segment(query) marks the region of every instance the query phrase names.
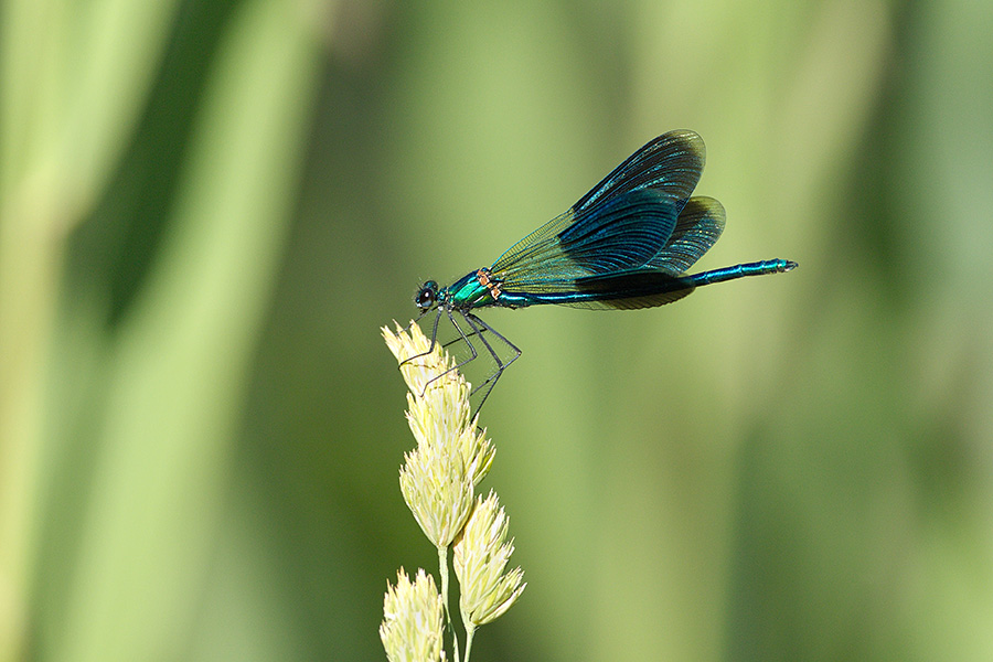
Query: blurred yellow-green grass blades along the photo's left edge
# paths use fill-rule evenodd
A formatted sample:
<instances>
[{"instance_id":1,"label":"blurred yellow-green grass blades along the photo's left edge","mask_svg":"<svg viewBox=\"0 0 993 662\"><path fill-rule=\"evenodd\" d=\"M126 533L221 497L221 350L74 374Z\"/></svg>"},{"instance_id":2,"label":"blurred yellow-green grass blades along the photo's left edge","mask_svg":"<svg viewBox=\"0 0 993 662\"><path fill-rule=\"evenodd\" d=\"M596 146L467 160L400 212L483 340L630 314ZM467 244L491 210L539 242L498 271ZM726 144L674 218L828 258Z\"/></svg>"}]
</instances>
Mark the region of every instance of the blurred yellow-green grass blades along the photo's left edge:
<instances>
[{"instance_id":1,"label":"blurred yellow-green grass blades along the photo's left edge","mask_svg":"<svg viewBox=\"0 0 993 662\"><path fill-rule=\"evenodd\" d=\"M0 659L25 637L46 354L64 239L153 79L175 0L0 6ZM51 413L50 413L51 414Z\"/></svg>"}]
</instances>

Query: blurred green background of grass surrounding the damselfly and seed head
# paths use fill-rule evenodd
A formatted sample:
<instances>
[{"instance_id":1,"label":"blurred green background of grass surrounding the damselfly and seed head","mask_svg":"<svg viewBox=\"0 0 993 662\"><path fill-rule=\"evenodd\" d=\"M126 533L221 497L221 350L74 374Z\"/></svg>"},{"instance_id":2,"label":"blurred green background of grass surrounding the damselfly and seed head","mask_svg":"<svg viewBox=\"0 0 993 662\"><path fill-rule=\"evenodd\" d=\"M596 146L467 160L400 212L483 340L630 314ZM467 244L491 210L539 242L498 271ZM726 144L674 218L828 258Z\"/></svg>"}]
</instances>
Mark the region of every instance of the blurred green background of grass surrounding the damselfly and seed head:
<instances>
[{"instance_id":1,"label":"blurred green background of grass surrounding the damselfly and seed head","mask_svg":"<svg viewBox=\"0 0 993 662\"><path fill-rule=\"evenodd\" d=\"M993 659L993 3L8 0L0 660L377 660L378 327L698 131L703 258L485 319L473 660Z\"/></svg>"}]
</instances>

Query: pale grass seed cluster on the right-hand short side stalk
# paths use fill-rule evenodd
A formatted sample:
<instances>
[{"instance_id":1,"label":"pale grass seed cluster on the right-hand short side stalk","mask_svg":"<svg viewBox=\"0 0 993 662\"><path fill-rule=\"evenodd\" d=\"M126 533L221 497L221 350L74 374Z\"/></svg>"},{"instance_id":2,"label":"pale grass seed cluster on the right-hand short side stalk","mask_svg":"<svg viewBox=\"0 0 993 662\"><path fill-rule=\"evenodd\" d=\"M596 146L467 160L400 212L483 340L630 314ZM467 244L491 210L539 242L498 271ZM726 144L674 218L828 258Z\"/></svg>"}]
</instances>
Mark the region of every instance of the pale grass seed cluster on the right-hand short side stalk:
<instances>
[{"instance_id":1,"label":"pale grass seed cluster on the right-hand short side stalk","mask_svg":"<svg viewBox=\"0 0 993 662\"><path fill-rule=\"evenodd\" d=\"M479 496L469 521L456 538L452 566L459 578L462 620L472 626L489 623L510 609L524 587L520 567L504 573L513 540L506 542L509 520L496 494Z\"/></svg>"}]
</instances>

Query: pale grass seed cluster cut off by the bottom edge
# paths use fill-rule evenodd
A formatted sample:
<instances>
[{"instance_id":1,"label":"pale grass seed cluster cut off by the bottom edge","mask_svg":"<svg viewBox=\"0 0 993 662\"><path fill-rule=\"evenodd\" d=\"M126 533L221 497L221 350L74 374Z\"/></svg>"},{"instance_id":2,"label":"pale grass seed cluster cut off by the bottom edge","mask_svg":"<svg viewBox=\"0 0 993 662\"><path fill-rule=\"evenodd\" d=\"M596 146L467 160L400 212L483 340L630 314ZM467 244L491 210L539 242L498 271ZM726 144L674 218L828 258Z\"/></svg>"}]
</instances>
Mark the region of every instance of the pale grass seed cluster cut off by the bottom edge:
<instances>
[{"instance_id":1,"label":"pale grass seed cluster cut off by the bottom edge","mask_svg":"<svg viewBox=\"0 0 993 662\"><path fill-rule=\"evenodd\" d=\"M389 662L444 662L444 607L435 578L423 569L412 583L403 568L386 583L380 639Z\"/></svg>"}]
</instances>

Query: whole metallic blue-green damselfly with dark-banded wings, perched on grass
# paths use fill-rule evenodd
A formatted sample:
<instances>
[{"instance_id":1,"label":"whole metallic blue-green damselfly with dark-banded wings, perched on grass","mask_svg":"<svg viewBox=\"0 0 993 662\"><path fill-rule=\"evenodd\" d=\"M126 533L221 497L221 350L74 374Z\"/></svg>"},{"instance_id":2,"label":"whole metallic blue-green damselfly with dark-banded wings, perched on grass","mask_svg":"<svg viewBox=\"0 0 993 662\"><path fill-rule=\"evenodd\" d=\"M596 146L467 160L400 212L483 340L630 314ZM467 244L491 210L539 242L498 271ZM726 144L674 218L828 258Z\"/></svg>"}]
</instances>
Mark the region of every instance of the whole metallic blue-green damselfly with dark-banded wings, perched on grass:
<instances>
[{"instance_id":1,"label":"whole metallic blue-green damselfly with dark-banded wings, perched on grass","mask_svg":"<svg viewBox=\"0 0 993 662\"><path fill-rule=\"evenodd\" d=\"M496 363L495 373L477 387L487 388L485 401L521 350L476 314L481 308L544 303L595 310L653 308L705 285L796 268L794 261L767 259L686 274L718 239L725 224L719 202L691 196L704 154L703 139L694 131L664 134L490 267L470 271L446 287L434 280L421 285L414 298L421 317L437 311L431 346L442 314L470 351L456 367L479 355L477 340ZM505 343L513 356L502 361L485 333Z\"/></svg>"}]
</instances>

